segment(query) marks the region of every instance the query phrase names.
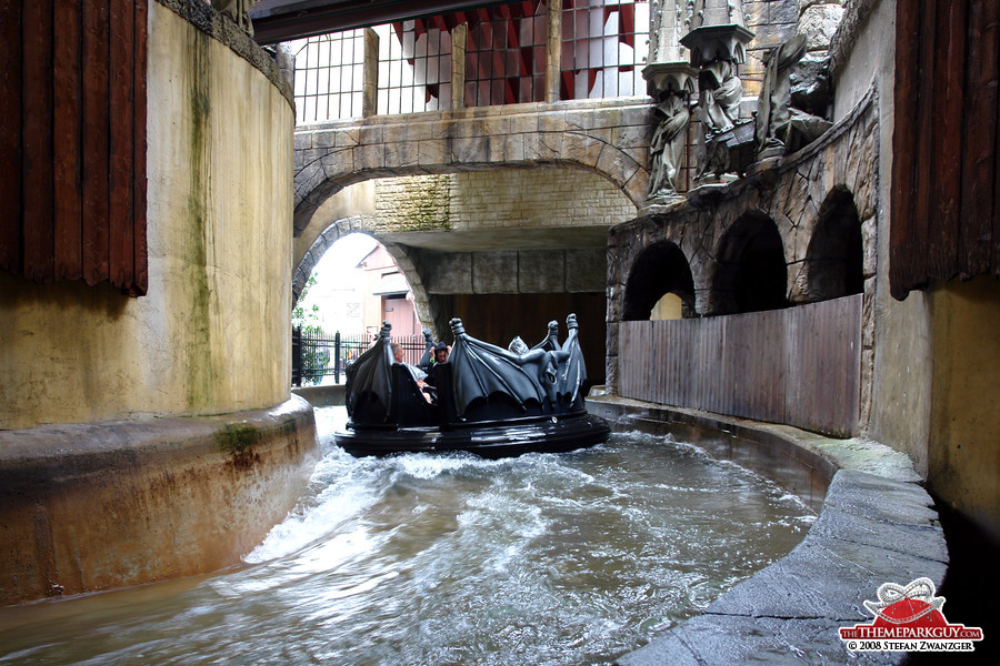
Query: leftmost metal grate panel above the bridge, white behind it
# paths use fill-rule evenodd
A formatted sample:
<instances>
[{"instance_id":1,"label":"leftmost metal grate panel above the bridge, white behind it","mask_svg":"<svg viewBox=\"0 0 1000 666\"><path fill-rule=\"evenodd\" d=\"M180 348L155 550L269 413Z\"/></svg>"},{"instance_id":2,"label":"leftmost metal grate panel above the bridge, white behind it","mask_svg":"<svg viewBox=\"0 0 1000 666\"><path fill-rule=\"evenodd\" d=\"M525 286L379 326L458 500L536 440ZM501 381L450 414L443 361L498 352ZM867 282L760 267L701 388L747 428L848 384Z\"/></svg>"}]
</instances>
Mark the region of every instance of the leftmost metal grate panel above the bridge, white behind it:
<instances>
[{"instance_id":1,"label":"leftmost metal grate panel above the bridge, white behind it","mask_svg":"<svg viewBox=\"0 0 1000 666\"><path fill-rule=\"evenodd\" d=\"M363 30L322 34L292 49L297 124L361 117L363 36Z\"/></svg>"}]
</instances>

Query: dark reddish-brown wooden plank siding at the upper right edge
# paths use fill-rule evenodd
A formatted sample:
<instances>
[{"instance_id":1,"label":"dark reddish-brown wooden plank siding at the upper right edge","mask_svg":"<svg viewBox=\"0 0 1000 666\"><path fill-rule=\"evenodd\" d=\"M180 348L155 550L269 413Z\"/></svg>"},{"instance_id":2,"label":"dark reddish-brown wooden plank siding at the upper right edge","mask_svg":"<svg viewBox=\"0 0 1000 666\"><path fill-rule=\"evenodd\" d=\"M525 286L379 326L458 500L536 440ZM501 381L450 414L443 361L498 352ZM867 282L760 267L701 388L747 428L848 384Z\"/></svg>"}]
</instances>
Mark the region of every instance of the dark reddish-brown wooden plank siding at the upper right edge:
<instances>
[{"instance_id":1,"label":"dark reddish-brown wooden plank siding at the upper right edge","mask_svg":"<svg viewBox=\"0 0 1000 666\"><path fill-rule=\"evenodd\" d=\"M1000 3L897 2L891 293L1000 278Z\"/></svg>"}]
</instances>

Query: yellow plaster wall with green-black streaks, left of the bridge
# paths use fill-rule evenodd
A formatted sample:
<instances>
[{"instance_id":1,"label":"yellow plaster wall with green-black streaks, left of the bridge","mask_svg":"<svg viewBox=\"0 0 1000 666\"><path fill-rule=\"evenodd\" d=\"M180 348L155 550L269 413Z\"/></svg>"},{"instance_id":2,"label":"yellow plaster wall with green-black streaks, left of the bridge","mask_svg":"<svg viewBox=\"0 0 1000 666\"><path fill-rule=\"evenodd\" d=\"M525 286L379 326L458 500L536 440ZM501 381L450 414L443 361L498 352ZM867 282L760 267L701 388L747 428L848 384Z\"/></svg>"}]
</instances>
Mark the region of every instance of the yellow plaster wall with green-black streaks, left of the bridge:
<instances>
[{"instance_id":1,"label":"yellow plaster wall with green-black streaks, left of the bridge","mask_svg":"<svg viewBox=\"0 0 1000 666\"><path fill-rule=\"evenodd\" d=\"M228 47L149 8L149 295L0 274L0 428L289 396L292 110Z\"/></svg>"}]
</instances>

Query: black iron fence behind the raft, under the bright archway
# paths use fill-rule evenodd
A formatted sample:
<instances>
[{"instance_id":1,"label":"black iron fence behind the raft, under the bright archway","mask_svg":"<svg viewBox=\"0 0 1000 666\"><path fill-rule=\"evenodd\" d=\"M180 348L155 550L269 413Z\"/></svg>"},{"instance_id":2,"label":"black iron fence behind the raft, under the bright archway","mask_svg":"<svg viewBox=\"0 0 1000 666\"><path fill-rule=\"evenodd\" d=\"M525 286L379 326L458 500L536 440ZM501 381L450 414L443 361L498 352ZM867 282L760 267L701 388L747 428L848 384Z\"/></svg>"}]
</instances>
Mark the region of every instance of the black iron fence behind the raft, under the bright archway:
<instances>
[{"instance_id":1,"label":"black iron fence behind the raft, under the bright archway","mask_svg":"<svg viewBox=\"0 0 1000 666\"><path fill-rule=\"evenodd\" d=\"M341 384L347 380L347 369L358 356L368 351L377 334L329 334L292 329L292 386ZM403 349L403 361L417 365L423 355L423 335L393 335ZM329 377L329 379L328 379Z\"/></svg>"}]
</instances>

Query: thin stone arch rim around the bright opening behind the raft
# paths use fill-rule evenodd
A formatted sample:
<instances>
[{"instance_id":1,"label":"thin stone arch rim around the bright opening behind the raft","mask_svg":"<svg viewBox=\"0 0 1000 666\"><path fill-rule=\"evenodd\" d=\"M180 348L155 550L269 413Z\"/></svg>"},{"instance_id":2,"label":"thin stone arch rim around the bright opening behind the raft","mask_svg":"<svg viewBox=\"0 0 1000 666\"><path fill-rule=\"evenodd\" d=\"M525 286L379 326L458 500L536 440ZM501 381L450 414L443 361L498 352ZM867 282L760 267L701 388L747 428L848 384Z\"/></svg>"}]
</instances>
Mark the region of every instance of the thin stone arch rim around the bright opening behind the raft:
<instances>
[{"instance_id":1,"label":"thin stone arch rim around the bright opening behind the raft","mask_svg":"<svg viewBox=\"0 0 1000 666\"><path fill-rule=\"evenodd\" d=\"M299 294L302 293L306 283L309 281L312 269L316 268L316 264L319 263L327 250L338 240L351 233L370 235L386 246L386 251L396 261L399 270L402 271L403 276L407 279L410 291L413 292L413 306L417 310L417 316L420 319L421 325L433 331L436 322L441 317L438 316L439 313L433 306L433 302L428 297L419 266L403 245L390 243L379 238L374 220L368 215L341 218L317 236L292 273L292 305L299 300ZM436 332L436 334L440 335L440 332Z\"/></svg>"}]
</instances>

